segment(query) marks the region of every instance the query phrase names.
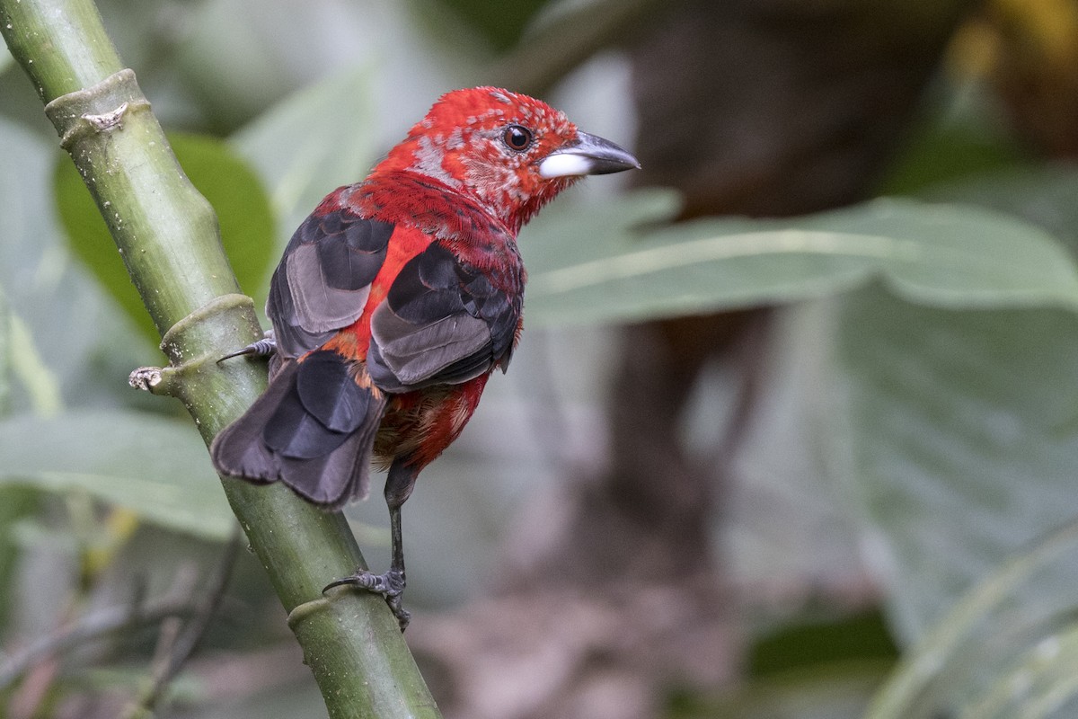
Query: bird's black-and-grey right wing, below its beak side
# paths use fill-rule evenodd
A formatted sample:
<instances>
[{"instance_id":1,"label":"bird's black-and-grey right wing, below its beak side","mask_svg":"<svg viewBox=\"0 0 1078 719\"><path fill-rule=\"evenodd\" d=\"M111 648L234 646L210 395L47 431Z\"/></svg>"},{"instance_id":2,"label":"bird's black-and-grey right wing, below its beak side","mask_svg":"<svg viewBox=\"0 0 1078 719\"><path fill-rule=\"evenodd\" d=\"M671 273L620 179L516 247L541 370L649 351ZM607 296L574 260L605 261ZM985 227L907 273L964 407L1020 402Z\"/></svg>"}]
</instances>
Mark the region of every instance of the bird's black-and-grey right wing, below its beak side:
<instances>
[{"instance_id":1,"label":"bird's black-and-grey right wing, below its beak side","mask_svg":"<svg viewBox=\"0 0 1078 719\"><path fill-rule=\"evenodd\" d=\"M414 257L371 317L367 370L390 392L459 384L505 365L522 295L495 288L440 245Z\"/></svg>"}]
</instances>

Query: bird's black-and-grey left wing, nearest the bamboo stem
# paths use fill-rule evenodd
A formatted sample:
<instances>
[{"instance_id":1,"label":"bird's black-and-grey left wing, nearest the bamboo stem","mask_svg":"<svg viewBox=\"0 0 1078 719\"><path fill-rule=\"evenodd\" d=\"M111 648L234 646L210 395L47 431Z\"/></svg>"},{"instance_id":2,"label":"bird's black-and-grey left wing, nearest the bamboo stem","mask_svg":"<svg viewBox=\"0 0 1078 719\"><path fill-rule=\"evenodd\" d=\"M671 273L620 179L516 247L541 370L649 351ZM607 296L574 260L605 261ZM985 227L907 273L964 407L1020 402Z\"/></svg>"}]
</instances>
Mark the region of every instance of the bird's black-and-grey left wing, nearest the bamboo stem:
<instances>
[{"instance_id":1,"label":"bird's black-and-grey left wing, nearest the bamboo stem","mask_svg":"<svg viewBox=\"0 0 1078 719\"><path fill-rule=\"evenodd\" d=\"M278 351L300 357L359 318L392 232L343 208L303 221L270 282Z\"/></svg>"}]
</instances>

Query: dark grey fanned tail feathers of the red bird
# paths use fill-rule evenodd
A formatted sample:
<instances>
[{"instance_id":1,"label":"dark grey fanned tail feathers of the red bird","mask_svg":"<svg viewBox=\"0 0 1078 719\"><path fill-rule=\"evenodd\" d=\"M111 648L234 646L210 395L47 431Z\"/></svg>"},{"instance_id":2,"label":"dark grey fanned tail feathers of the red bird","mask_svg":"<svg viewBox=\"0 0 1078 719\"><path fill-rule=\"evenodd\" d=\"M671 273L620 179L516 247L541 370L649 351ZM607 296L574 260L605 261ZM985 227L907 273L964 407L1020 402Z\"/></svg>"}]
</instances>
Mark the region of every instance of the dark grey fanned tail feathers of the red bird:
<instances>
[{"instance_id":1,"label":"dark grey fanned tail feathers of the red bird","mask_svg":"<svg viewBox=\"0 0 1078 719\"><path fill-rule=\"evenodd\" d=\"M222 474L280 480L308 501L337 509L369 492L384 410L384 396L357 385L343 357L314 352L284 362L265 393L218 434L210 454Z\"/></svg>"}]
</instances>

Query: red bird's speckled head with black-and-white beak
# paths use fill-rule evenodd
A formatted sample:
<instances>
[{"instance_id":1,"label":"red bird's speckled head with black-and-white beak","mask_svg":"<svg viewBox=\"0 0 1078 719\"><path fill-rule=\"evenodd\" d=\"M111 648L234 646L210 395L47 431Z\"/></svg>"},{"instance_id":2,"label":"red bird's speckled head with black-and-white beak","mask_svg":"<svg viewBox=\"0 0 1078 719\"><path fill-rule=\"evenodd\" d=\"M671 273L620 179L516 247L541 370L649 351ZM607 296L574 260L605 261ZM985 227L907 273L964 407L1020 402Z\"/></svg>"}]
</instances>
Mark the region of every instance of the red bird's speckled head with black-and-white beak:
<instances>
[{"instance_id":1,"label":"red bird's speckled head with black-and-white beak","mask_svg":"<svg viewBox=\"0 0 1078 719\"><path fill-rule=\"evenodd\" d=\"M497 87L443 95L375 171L407 170L473 195L513 231L584 175L639 168L545 102Z\"/></svg>"}]
</instances>

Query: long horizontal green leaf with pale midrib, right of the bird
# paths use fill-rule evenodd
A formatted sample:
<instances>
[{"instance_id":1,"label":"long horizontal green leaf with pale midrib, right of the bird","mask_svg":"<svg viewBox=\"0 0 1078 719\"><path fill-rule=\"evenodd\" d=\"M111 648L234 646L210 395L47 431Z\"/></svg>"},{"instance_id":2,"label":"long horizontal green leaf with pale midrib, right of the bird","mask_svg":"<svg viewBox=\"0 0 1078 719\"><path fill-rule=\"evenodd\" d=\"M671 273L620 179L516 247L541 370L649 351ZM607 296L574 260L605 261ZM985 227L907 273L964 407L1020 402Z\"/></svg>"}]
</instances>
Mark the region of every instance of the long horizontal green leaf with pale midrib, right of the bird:
<instances>
[{"instance_id":1,"label":"long horizontal green leaf with pale midrib, right of the bird","mask_svg":"<svg viewBox=\"0 0 1078 719\"><path fill-rule=\"evenodd\" d=\"M663 218L653 194L564 211L522 243L530 322L626 322L825 296L882 277L944 307L1078 307L1078 273L1044 231L975 207L875 201L792 220Z\"/></svg>"}]
</instances>

